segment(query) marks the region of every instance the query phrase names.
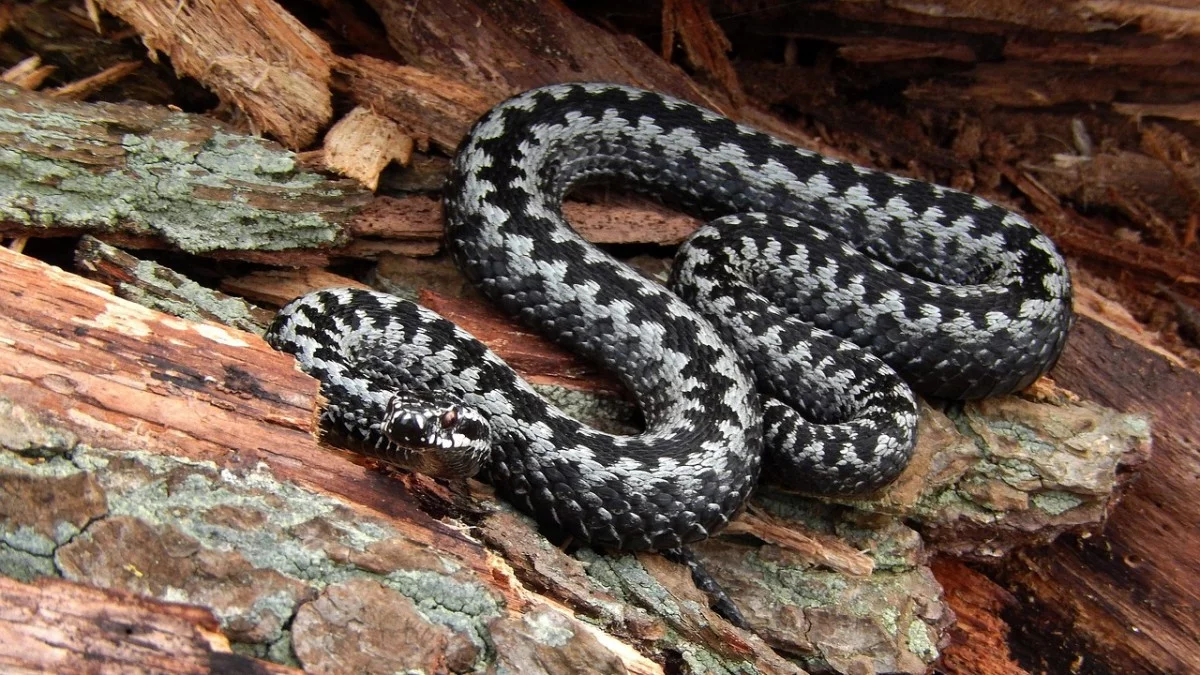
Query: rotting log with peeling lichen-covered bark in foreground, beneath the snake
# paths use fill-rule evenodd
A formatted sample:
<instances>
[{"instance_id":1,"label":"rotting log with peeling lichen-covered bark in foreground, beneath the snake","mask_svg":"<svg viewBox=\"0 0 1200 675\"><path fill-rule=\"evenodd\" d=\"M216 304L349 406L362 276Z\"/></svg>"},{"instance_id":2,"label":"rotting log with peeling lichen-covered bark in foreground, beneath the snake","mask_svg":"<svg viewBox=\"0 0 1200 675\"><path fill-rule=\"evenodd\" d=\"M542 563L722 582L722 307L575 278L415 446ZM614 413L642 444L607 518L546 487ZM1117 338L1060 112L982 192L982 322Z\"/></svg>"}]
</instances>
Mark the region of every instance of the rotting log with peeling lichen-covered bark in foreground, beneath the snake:
<instances>
[{"instance_id":1,"label":"rotting log with peeling lichen-covered bark in foreground, beneath the snake","mask_svg":"<svg viewBox=\"0 0 1200 675\"><path fill-rule=\"evenodd\" d=\"M103 259L125 264L127 274L142 267ZM306 668L365 667L353 653L386 643L390 633L377 621L385 608L391 625L424 635L420 649L392 653L395 668L469 670L492 658L520 662L521 655L545 647L528 643L522 626L530 621L562 626L580 640L574 650L554 652L566 659L559 662L563 668L604 662L653 671L640 651L683 651L695 670L716 659L724 668L752 662L761 671L796 671L778 650L839 670L920 673L937 656L950 615L940 604L919 539L899 522L764 492L766 510L740 519L734 531L767 545L734 538L698 548L757 635L742 632L704 609L684 568L658 556L586 550L568 556L547 549L502 504L476 501L484 492L463 500L421 478L389 480L319 448L310 435L313 382L257 336L131 305L6 251L0 265L0 292L13 310L0 322L0 400L12 422L4 446L16 456L48 458L44 468L17 461L0 471L6 494L23 496L7 515L7 526L25 533L8 567L18 577L59 573L151 596L170 590L226 617L230 639L257 645L264 656L282 640ZM142 274L163 276L152 269ZM460 318L472 316L469 306L458 311ZM1018 459L1019 446L991 430L990 416L1021 419L1032 430L1040 424L1039 411L1049 414L1050 429L1084 432L1058 441L1068 444L1097 432L1121 438L1128 434L1122 429L1136 424L1061 401L1010 399L958 422L992 444L996 456L989 459L979 456L973 441L955 440L948 419L926 410L924 446L912 470L864 508L907 513L935 532L930 545L960 552L983 545L996 550L1025 540L1030 528L1054 532L1079 518L1093 519L1094 509L1106 508L1111 482L1082 485L1070 477L1097 471L1111 477L1121 462L1136 461L1136 434L1105 453L1088 450L1085 464L1066 473L1043 467L1045 495L1081 490L1066 519L1033 507L1044 498L1037 491L1020 497L980 489L1000 480L989 473L994 462L1030 461ZM962 454L947 460L948 448ZM161 482L173 485L166 495L152 489ZM937 495L955 482L973 485L967 492L973 490L970 498L979 504L962 500L946 509ZM79 496L49 512L38 507L38 495L59 492ZM1096 501L1080 508L1086 502L1078 500L1088 494ZM997 519L998 496L1015 510ZM469 532L503 560L430 518L431 504L472 522ZM989 514L990 531L973 520L979 507L988 509L979 515ZM1006 520L1007 530L995 527ZM851 537L848 546L841 537ZM872 561L878 555L887 556L882 568ZM300 568L296 556L306 561ZM770 569L794 572L780 584ZM780 593L792 599L781 604ZM253 610L264 595L275 598L272 610ZM349 597L359 598L356 611L373 619L347 616ZM824 601L814 607L816 598ZM454 614L466 611L469 619L443 615L437 608L446 603L469 608ZM580 623L558 603L607 634ZM241 616L246 608L252 611ZM900 616L878 621L887 608L901 608ZM630 616L641 619L630 623ZM898 620L901 631L890 633ZM485 634L490 644L509 640L515 651L487 656ZM329 635L342 639L325 644ZM340 645L356 646L338 651Z\"/></svg>"}]
</instances>

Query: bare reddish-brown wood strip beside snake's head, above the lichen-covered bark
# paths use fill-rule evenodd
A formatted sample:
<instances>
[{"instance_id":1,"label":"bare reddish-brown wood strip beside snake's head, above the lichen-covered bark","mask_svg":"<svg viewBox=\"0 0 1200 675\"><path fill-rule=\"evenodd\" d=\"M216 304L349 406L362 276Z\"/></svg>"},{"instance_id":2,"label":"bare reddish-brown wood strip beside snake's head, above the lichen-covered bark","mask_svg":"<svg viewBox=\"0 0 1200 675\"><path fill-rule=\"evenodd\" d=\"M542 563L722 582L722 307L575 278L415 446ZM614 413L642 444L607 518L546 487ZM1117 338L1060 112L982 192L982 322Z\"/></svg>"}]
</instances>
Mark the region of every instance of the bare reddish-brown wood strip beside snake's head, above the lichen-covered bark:
<instances>
[{"instance_id":1,"label":"bare reddish-brown wood strip beside snake's head, above the lichen-covered bark","mask_svg":"<svg viewBox=\"0 0 1200 675\"><path fill-rule=\"evenodd\" d=\"M263 461L281 478L403 516L415 540L490 569L401 484L318 446L317 381L257 335L148 310L2 247L0 306L0 396L82 442L221 466Z\"/></svg>"}]
</instances>

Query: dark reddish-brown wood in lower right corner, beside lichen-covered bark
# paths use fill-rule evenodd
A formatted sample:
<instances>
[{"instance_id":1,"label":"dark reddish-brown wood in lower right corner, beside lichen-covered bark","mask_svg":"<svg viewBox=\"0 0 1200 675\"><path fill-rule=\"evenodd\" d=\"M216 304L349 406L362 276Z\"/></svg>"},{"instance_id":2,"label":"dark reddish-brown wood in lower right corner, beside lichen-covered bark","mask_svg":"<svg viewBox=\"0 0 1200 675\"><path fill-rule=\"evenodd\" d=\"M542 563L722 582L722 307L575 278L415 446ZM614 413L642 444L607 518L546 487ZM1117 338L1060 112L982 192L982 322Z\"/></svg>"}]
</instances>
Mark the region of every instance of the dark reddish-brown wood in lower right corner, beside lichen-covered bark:
<instances>
[{"instance_id":1,"label":"dark reddish-brown wood in lower right corner, beside lichen-covered bark","mask_svg":"<svg viewBox=\"0 0 1200 675\"><path fill-rule=\"evenodd\" d=\"M1076 324L1055 378L1080 395L1153 419L1154 461L1103 537L1028 551L1006 578L1034 598L1022 640L1081 640L1079 657L1126 673L1200 670L1200 375L1090 319Z\"/></svg>"}]
</instances>

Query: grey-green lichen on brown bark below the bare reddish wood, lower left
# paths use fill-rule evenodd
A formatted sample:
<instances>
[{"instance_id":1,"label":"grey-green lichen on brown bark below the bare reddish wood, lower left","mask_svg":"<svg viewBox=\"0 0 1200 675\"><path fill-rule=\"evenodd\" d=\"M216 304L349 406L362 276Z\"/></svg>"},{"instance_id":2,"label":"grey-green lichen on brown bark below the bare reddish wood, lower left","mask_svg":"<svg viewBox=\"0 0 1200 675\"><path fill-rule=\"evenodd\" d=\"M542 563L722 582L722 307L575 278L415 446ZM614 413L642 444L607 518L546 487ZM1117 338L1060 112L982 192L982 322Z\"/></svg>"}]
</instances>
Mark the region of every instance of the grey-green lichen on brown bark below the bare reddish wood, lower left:
<instances>
[{"instance_id":1,"label":"grey-green lichen on brown bark below the bare reddish wood, lower left","mask_svg":"<svg viewBox=\"0 0 1200 675\"><path fill-rule=\"evenodd\" d=\"M412 598L428 621L467 635L480 647L487 645L487 622L502 613L502 601L469 574L456 574L461 566L449 556L413 552L397 557L398 565L418 560L432 567L367 571L354 563L353 554L338 552L370 554L379 545L391 550L389 545L407 540L383 520L355 518L355 512L342 502L278 480L264 466L222 470L208 461L76 444L61 430L38 424L19 406L0 404L0 412L7 412L0 414L8 429L2 435L5 443L20 448L53 443L62 447L64 453L49 460L29 460L0 452L0 471L43 479L95 476L107 498L104 519L133 518L157 528L154 531L173 531L190 538L197 551L210 551L199 554L202 560L197 565L218 561L211 579L196 583L160 578L156 584L166 585L157 595L174 602L212 603L214 613L227 628L238 626L241 634L264 640L244 644L244 651L262 653L265 645L271 645L277 652L283 649L280 645L288 644L287 632L280 628L292 620L298 596L294 584L282 581L270 581L274 586L258 591L222 589L222 584L236 583L238 577L223 580L221 574L229 565L236 569L238 558L250 565L246 569L251 574L275 571L302 580L314 591L355 577L376 578ZM0 527L0 572L24 580L55 575L62 567L56 565L55 556L65 544L101 545L92 542L90 525L80 531L71 522L55 521L53 527L53 537L28 526ZM106 540L112 540L112 532ZM175 542L170 544L175 546L185 542L168 540ZM188 544L182 545L184 549L176 549L179 552L192 550ZM410 550L418 549L425 550L420 546ZM79 557L73 556L71 568L78 571L78 565ZM126 567L138 578L143 574ZM101 574L113 578L114 572L107 568ZM120 573L116 574L119 578Z\"/></svg>"}]
</instances>

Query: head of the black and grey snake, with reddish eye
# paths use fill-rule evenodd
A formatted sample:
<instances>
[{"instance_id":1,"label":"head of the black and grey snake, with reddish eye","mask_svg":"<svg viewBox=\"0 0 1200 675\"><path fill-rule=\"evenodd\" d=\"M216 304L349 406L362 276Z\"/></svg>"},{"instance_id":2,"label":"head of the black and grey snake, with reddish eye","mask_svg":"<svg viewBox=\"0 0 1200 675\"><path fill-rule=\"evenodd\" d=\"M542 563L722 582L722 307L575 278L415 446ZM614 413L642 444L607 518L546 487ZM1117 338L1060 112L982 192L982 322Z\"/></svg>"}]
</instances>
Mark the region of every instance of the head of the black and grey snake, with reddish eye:
<instances>
[{"instance_id":1,"label":"head of the black and grey snake, with reddish eye","mask_svg":"<svg viewBox=\"0 0 1200 675\"><path fill-rule=\"evenodd\" d=\"M469 478L492 449L492 426L449 396L400 392L388 400L379 430L391 441L389 462L437 478Z\"/></svg>"}]
</instances>

